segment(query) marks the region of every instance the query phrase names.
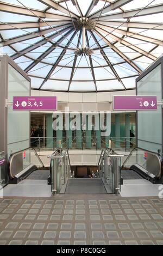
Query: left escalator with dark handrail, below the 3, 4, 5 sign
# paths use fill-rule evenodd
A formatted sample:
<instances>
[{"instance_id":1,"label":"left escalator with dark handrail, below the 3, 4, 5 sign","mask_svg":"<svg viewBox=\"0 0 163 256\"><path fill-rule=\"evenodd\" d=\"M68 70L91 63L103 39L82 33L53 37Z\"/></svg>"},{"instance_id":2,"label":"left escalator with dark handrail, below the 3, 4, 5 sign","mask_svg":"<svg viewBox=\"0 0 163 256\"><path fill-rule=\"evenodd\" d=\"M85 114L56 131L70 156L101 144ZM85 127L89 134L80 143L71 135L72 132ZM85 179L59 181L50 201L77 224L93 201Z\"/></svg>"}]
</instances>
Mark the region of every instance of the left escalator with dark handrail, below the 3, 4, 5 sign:
<instances>
[{"instance_id":1,"label":"left escalator with dark handrail, below the 3, 4, 5 sign","mask_svg":"<svg viewBox=\"0 0 163 256\"><path fill-rule=\"evenodd\" d=\"M12 153L8 160L9 184L18 184L24 179L45 179L49 176L36 150L27 148Z\"/></svg>"}]
</instances>

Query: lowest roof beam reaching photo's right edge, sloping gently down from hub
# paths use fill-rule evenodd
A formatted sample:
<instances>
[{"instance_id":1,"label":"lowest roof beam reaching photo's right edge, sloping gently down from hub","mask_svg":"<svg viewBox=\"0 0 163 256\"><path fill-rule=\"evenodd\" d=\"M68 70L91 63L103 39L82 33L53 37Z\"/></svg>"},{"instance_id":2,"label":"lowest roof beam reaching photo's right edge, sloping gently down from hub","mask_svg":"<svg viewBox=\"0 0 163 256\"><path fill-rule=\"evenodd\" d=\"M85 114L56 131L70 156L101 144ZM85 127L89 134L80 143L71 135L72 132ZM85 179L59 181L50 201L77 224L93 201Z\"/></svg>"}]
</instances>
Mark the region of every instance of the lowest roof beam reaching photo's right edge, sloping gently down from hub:
<instances>
[{"instance_id":1,"label":"lowest roof beam reaching photo's right edge, sloping gently down from hub","mask_svg":"<svg viewBox=\"0 0 163 256\"><path fill-rule=\"evenodd\" d=\"M105 25L99 25L98 26L102 27L102 28L106 28L106 29L109 29L110 32L108 32L108 35L112 35L112 31L116 32L116 33L119 33L119 34L122 34L124 36L127 36L127 37L131 37L131 38L136 38L136 39L139 39L139 40L142 40L142 41L146 41L146 42L151 42L152 44L156 44L156 45L162 45L163 44L163 40L157 40L155 38L151 38L149 36L146 36L146 35L142 35L142 34L136 34L136 33L133 33L133 32L129 32L129 31L125 31L123 29L120 29L120 28L114 28L114 27L109 27L109 26L105 26Z\"/></svg>"}]
</instances>

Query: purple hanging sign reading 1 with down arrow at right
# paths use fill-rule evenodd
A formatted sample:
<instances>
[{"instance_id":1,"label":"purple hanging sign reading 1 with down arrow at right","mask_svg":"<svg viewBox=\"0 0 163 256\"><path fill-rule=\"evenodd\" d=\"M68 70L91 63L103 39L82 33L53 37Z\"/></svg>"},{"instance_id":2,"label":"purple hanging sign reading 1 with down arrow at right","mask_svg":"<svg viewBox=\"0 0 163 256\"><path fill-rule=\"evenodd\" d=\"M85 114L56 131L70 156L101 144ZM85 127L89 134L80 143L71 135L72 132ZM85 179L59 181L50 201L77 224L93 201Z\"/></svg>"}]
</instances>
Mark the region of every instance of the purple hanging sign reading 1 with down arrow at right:
<instances>
[{"instance_id":1,"label":"purple hanging sign reading 1 with down arrow at right","mask_svg":"<svg viewBox=\"0 0 163 256\"><path fill-rule=\"evenodd\" d=\"M114 96L114 110L156 110L156 96Z\"/></svg>"}]
</instances>

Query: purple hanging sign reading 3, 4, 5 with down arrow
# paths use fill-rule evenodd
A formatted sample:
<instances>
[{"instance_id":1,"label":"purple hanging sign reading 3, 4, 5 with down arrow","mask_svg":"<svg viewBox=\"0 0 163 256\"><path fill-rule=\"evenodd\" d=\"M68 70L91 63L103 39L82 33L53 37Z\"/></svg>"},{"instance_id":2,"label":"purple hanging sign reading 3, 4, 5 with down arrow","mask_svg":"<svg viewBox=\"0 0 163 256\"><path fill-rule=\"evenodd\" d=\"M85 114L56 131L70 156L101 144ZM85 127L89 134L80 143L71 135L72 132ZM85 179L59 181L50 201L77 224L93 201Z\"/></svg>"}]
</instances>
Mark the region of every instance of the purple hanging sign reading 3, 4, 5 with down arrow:
<instances>
[{"instance_id":1,"label":"purple hanging sign reading 3, 4, 5 with down arrow","mask_svg":"<svg viewBox=\"0 0 163 256\"><path fill-rule=\"evenodd\" d=\"M57 110L57 96L14 96L13 110Z\"/></svg>"}]
</instances>

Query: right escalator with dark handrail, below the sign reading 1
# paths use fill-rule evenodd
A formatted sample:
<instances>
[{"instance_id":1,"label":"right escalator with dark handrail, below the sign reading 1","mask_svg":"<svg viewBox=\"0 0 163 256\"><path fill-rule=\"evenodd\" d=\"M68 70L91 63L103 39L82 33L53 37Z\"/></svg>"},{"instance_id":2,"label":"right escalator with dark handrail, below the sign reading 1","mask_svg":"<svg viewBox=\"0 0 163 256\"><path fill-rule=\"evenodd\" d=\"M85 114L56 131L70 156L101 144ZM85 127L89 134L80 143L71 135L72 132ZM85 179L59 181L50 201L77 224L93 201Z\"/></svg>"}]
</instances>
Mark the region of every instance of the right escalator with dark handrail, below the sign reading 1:
<instances>
[{"instance_id":1,"label":"right escalator with dark handrail, below the sign reading 1","mask_svg":"<svg viewBox=\"0 0 163 256\"><path fill-rule=\"evenodd\" d=\"M124 179L146 179L153 184L162 184L162 159L158 153L134 148L122 164L121 176Z\"/></svg>"}]
</instances>

